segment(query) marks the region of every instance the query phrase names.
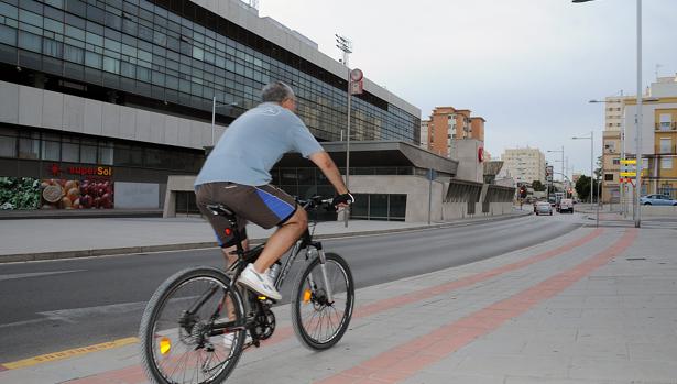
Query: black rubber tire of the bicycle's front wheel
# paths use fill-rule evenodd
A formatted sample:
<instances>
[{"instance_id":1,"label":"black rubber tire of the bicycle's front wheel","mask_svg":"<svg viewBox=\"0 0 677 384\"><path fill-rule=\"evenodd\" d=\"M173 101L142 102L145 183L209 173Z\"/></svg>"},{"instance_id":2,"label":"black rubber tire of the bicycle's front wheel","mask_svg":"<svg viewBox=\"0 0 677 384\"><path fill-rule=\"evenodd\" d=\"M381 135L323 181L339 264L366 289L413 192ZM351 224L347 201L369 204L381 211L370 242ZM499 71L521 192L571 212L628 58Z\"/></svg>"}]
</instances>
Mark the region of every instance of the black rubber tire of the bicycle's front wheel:
<instances>
[{"instance_id":1,"label":"black rubber tire of the bicycle's front wheel","mask_svg":"<svg viewBox=\"0 0 677 384\"><path fill-rule=\"evenodd\" d=\"M342 315L340 317L340 323L338 328L329 336L327 340L318 340L317 338L314 337L314 334L308 332L308 330L304 326L304 318L302 314L302 309L303 309L302 307L306 307L310 304L310 301L315 301L315 297L312 297L308 299L308 296L306 294L306 290L307 290L306 283L307 283L308 275L314 271L317 271L318 272L317 275L321 276L320 270L318 267L320 263L319 257L315 257L306 266L303 273L299 273L296 276L296 281L294 282L294 289L292 290L294 293L292 295L292 300L291 300L292 301L292 326L294 328L294 333L296 333L296 337L301 341L302 345L310 350L314 350L314 351L329 349L341 340L341 338L343 337L343 333L346 333L346 330L348 329L348 326L350 325L350 319L352 317L352 308L354 305L354 283L352 281L352 273L350 272L350 267L348 266L348 263L346 262L346 260L343 260L343 257L341 257L340 255L336 253L327 253L326 261L327 261L326 265L334 265L337 267L336 270L339 273L341 273L342 275L341 277L343 278L343 283L346 284L345 305L342 306L342 308L339 308L342 310ZM332 281L331 277L329 277L329 279ZM338 293L336 293L335 303L330 306L325 306L324 308L327 308L327 307L334 308L334 305L337 304L337 296L342 296L342 295L338 295ZM323 306L320 305L320 303L313 303L313 307L314 307L313 309L317 310L317 307L323 307ZM334 309L337 310L337 308L334 308ZM320 326L320 330L321 330L321 326Z\"/></svg>"}]
</instances>

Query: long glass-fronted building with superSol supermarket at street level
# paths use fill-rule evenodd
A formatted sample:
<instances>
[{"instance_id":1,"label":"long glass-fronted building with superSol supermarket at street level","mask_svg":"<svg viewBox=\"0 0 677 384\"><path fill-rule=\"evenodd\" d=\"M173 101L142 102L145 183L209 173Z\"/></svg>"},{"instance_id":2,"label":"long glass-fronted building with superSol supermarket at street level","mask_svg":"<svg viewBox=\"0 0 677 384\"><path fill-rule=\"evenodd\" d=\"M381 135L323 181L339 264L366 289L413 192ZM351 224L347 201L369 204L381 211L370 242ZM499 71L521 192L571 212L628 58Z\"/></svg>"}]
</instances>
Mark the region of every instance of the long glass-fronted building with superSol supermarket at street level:
<instances>
[{"instance_id":1,"label":"long glass-fronted building with superSol supermarket at street level","mask_svg":"<svg viewBox=\"0 0 677 384\"><path fill-rule=\"evenodd\" d=\"M197 174L205 147L272 80L292 86L318 141L345 138L347 75L240 0L0 0L0 178L61 183L61 200L44 201L41 189L31 206L110 208L114 195L114 208L161 208L167 176ZM365 80L352 97L351 140L417 144L419 117ZM274 182L292 194L328 188L307 172L274 171ZM111 188L110 204L77 199L95 182Z\"/></svg>"}]
</instances>

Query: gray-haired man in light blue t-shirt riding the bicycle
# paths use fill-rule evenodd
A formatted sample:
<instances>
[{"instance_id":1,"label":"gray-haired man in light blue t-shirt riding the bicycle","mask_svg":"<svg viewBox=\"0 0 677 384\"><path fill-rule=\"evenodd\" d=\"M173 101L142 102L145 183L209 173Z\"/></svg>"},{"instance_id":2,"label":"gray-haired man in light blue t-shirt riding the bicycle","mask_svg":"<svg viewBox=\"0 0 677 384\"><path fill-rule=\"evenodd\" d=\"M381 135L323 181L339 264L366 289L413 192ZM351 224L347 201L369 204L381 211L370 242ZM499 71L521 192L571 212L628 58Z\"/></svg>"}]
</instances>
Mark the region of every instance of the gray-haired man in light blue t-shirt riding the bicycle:
<instances>
[{"instance_id":1,"label":"gray-haired man in light blue t-shirt riding the bicycle","mask_svg":"<svg viewBox=\"0 0 677 384\"><path fill-rule=\"evenodd\" d=\"M280 300L282 296L265 271L301 238L308 227L305 210L293 197L271 185L270 169L287 152L298 152L315 163L337 191L334 206L354 201L336 164L308 128L294 113L296 97L290 86L274 81L262 90L262 103L236 119L226 130L195 182L199 210L215 230L229 265L237 256L229 221L212 215L207 205L223 204L238 217L242 239L248 221L265 229L277 226L261 255L249 264L238 283ZM242 248L248 249L248 241Z\"/></svg>"}]
</instances>

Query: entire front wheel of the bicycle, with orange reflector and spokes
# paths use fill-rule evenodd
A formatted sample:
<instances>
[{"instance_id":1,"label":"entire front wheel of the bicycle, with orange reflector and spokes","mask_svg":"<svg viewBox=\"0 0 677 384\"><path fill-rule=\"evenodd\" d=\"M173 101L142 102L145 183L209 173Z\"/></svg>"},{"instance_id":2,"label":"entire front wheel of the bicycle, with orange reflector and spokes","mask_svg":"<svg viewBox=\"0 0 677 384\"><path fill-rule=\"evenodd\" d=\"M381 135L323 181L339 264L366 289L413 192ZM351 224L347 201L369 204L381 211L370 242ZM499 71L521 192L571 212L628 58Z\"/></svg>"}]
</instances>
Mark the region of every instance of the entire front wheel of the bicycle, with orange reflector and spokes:
<instances>
[{"instance_id":1,"label":"entire front wheel of the bicycle, with orange reflector and spokes","mask_svg":"<svg viewBox=\"0 0 677 384\"><path fill-rule=\"evenodd\" d=\"M334 347L352 317L354 285L348 263L336 253L327 253L325 264L316 257L298 274L292 292L292 325L302 344L310 350Z\"/></svg>"}]
</instances>

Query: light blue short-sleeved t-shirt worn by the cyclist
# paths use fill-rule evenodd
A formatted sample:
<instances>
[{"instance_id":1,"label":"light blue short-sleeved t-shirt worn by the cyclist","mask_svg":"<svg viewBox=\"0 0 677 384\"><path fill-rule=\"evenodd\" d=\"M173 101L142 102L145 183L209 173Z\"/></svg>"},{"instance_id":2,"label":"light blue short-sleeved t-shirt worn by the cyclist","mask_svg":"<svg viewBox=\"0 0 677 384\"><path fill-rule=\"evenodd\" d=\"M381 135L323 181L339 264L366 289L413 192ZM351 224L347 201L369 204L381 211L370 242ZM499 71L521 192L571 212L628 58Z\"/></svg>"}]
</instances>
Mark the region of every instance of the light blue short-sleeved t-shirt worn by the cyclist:
<instances>
[{"instance_id":1,"label":"light blue short-sleeved t-shirt worn by the cyclist","mask_svg":"<svg viewBox=\"0 0 677 384\"><path fill-rule=\"evenodd\" d=\"M271 168L287 152L304 157L324 151L292 111L264 102L236 119L219 139L195 185L231 182L261 186L271 183Z\"/></svg>"}]
</instances>

